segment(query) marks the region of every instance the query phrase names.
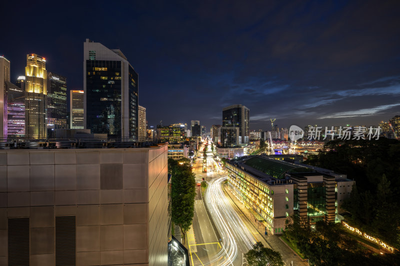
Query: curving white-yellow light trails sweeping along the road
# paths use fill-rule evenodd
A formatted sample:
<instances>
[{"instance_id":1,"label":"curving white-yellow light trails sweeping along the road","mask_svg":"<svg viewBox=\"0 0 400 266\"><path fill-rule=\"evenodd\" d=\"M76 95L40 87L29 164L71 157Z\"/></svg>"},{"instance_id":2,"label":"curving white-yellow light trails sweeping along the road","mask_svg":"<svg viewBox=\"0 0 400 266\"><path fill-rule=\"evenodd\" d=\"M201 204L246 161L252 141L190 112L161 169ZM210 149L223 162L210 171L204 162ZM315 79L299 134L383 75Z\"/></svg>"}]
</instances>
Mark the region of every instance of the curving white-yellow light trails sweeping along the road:
<instances>
[{"instance_id":1,"label":"curving white-yellow light trails sweeping along the road","mask_svg":"<svg viewBox=\"0 0 400 266\"><path fill-rule=\"evenodd\" d=\"M221 186L225 180L226 177L213 179L208 183L208 188L204 195L205 203L221 236L222 244L222 249L218 254L209 258L209 261L204 263L204 265L233 265L233 261L237 256L238 245L240 245L241 250L248 251L256 242L254 236L233 210L224 195Z\"/></svg>"}]
</instances>

